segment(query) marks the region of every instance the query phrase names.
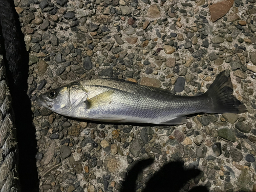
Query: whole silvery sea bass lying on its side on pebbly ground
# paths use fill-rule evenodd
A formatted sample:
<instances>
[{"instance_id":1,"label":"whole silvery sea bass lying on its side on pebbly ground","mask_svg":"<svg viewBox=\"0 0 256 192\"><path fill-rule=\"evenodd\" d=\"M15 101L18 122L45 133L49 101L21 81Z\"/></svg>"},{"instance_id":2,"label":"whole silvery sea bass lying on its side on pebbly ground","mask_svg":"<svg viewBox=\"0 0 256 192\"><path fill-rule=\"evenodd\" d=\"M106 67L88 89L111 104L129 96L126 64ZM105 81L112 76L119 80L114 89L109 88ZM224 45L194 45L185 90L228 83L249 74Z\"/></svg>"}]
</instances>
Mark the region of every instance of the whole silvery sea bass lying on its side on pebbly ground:
<instances>
[{"instance_id":1,"label":"whole silvery sea bass lying on its side on pebbly ground","mask_svg":"<svg viewBox=\"0 0 256 192\"><path fill-rule=\"evenodd\" d=\"M189 114L246 112L232 93L231 79L222 71L207 92L198 96L174 95L129 81L90 79L41 94L37 102L78 119L174 125L185 123Z\"/></svg>"}]
</instances>

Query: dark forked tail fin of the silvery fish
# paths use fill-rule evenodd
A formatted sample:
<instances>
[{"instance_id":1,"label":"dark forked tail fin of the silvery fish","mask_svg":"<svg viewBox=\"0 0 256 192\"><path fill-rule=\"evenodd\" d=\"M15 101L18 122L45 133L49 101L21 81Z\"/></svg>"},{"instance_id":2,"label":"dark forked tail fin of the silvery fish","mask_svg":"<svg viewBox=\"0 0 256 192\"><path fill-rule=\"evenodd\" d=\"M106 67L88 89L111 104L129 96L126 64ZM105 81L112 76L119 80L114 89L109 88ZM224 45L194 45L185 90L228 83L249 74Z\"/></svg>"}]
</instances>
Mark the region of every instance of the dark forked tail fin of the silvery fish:
<instances>
[{"instance_id":1,"label":"dark forked tail fin of the silvery fish","mask_svg":"<svg viewBox=\"0 0 256 192\"><path fill-rule=\"evenodd\" d=\"M230 77L222 71L204 94L212 101L210 113L244 113L246 106L233 96Z\"/></svg>"}]
</instances>

